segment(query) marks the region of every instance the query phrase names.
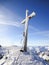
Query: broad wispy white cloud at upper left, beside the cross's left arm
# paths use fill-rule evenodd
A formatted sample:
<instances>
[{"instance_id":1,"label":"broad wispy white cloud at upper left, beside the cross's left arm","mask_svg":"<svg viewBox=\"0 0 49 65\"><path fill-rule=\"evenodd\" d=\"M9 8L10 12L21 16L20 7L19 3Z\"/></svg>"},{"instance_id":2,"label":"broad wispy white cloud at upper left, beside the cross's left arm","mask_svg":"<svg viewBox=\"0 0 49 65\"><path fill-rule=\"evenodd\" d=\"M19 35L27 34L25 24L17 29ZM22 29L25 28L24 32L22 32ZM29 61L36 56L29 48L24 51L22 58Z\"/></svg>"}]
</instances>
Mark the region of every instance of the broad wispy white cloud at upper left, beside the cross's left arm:
<instances>
[{"instance_id":1,"label":"broad wispy white cloud at upper left, beside the cross's left arm","mask_svg":"<svg viewBox=\"0 0 49 65\"><path fill-rule=\"evenodd\" d=\"M20 27L19 21L22 20L19 15L13 13L9 9L5 8L4 6L0 5L0 25L10 25Z\"/></svg>"}]
</instances>

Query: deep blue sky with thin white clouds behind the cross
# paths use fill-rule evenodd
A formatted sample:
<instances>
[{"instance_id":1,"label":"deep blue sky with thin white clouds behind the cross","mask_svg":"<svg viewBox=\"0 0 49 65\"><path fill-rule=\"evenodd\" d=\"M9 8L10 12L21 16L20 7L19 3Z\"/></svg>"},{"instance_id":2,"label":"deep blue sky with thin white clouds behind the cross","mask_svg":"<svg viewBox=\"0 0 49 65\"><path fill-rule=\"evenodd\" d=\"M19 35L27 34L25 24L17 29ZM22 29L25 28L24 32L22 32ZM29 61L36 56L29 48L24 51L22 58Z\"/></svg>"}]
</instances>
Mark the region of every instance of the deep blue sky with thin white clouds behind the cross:
<instances>
[{"instance_id":1,"label":"deep blue sky with thin white clouds behind the cross","mask_svg":"<svg viewBox=\"0 0 49 65\"><path fill-rule=\"evenodd\" d=\"M0 44L23 45L26 9L36 13L29 20L28 45L49 45L49 0L0 0Z\"/></svg>"}]
</instances>

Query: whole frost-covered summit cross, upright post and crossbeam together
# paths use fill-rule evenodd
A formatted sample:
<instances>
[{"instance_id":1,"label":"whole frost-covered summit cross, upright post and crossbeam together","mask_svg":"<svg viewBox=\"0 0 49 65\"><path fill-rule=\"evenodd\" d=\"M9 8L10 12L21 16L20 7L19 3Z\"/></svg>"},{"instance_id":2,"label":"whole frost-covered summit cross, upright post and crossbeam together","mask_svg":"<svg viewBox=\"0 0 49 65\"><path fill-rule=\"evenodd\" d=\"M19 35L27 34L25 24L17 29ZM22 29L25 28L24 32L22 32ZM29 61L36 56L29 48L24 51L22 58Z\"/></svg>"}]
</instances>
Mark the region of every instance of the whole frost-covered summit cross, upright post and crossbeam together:
<instances>
[{"instance_id":1,"label":"whole frost-covered summit cross, upright post and crossbeam together","mask_svg":"<svg viewBox=\"0 0 49 65\"><path fill-rule=\"evenodd\" d=\"M28 36L28 21L34 17L36 14L35 12L32 12L29 16L28 16L28 10L26 10L26 18L21 22L22 24L25 25L25 31L24 31L24 49L23 51L27 51L27 36Z\"/></svg>"}]
</instances>

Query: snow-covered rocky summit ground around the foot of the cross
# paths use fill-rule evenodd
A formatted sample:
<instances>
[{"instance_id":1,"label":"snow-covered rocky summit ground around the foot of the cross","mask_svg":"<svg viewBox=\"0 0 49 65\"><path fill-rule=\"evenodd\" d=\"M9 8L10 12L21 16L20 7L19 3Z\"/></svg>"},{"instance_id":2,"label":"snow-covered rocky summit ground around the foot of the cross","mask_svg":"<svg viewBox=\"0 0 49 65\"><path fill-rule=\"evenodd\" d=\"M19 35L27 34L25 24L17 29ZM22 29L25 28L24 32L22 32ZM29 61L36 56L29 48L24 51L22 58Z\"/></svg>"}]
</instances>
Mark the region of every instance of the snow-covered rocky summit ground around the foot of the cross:
<instances>
[{"instance_id":1,"label":"snow-covered rocky summit ground around the foot of the cross","mask_svg":"<svg viewBox=\"0 0 49 65\"><path fill-rule=\"evenodd\" d=\"M39 56L42 51L45 52L45 49L40 51L42 48L32 47L28 48L27 52L20 52L20 49L21 47L17 46L0 47L0 55L3 55L3 58L0 59L0 65L49 65Z\"/></svg>"}]
</instances>

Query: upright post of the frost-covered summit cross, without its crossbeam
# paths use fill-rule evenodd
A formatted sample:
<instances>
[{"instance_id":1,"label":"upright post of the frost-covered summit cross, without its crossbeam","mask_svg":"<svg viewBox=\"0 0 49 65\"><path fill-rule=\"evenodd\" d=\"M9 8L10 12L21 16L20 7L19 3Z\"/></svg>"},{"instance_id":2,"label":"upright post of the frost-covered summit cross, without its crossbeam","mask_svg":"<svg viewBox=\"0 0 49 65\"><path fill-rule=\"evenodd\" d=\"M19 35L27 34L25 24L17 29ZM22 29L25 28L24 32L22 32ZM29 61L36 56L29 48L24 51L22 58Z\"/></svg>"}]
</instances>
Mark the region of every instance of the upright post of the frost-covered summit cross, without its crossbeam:
<instances>
[{"instance_id":1,"label":"upright post of the frost-covered summit cross, without its crossbeam","mask_svg":"<svg viewBox=\"0 0 49 65\"><path fill-rule=\"evenodd\" d=\"M28 36L28 10L26 10L26 21L25 21L25 36L24 36L24 51L27 51L27 36Z\"/></svg>"}]
</instances>

